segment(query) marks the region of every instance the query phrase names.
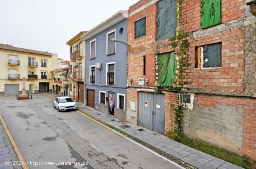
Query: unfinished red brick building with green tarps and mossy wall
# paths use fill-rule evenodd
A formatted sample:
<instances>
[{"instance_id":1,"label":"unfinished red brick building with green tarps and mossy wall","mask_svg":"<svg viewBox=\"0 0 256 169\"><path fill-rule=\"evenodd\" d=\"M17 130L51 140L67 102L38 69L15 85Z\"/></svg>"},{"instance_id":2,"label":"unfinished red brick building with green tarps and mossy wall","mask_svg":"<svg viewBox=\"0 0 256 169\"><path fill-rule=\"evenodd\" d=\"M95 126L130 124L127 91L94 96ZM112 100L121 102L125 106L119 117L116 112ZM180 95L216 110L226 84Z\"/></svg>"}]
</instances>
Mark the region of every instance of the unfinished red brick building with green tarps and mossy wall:
<instances>
[{"instance_id":1,"label":"unfinished red brick building with green tarps and mossy wall","mask_svg":"<svg viewBox=\"0 0 256 169\"><path fill-rule=\"evenodd\" d=\"M129 7L128 122L256 167L256 17L246 2Z\"/></svg>"}]
</instances>

